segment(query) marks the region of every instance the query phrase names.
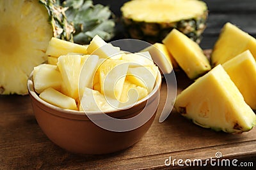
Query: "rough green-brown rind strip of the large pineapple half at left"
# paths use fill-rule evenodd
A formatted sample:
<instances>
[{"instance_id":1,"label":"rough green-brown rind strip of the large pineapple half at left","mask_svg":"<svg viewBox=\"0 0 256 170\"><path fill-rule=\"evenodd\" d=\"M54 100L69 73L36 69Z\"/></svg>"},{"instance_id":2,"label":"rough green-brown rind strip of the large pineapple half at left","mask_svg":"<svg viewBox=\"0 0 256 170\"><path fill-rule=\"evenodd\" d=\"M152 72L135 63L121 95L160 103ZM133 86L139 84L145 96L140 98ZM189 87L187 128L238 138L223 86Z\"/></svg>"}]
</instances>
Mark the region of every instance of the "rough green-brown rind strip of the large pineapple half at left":
<instances>
[{"instance_id":1,"label":"rough green-brown rind strip of the large pineapple half at left","mask_svg":"<svg viewBox=\"0 0 256 170\"><path fill-rule=\"evenodd\" d=\"M68 8L60 6L58 0L39 0L39 3L44 4L48 11L49 22L53 29L53 36L67 41L73 41L75 28L72 23L68 22L65 15L65 11Z\"/></svg>"}]
</instances>

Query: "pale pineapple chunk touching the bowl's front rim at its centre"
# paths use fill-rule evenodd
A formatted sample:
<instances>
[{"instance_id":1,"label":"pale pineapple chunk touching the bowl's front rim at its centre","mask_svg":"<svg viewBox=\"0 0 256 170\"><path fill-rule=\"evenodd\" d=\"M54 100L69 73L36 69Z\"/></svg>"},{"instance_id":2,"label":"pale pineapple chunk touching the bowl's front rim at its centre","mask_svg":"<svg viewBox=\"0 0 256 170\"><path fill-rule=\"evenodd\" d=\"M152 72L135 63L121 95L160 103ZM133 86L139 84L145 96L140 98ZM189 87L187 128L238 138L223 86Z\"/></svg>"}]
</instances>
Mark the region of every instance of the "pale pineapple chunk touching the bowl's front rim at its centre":
<instances>
[{"instance_id":1,"label":"pale pineapple chunk touching the bowl's front rim at its centre","mask_svg":"<svg viewBox=\"0 0 256 170\"><path fill-rule=\"evenodd\" d=\"M80 111L109 111L115 110L108 104L103 94L97 90L84 89L84 94L79 105Z\"/></svg>"}]
</instances>

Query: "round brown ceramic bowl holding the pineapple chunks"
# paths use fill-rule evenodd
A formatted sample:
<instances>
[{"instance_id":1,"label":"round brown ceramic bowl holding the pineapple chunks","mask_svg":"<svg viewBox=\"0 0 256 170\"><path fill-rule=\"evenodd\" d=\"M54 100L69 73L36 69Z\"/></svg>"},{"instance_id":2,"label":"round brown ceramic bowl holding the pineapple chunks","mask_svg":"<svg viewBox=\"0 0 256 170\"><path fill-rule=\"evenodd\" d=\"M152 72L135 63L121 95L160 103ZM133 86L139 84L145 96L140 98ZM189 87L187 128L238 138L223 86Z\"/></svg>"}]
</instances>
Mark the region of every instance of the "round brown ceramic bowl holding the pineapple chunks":
<instances>
[{"instance_id":1,"label":"round brown ceramic bowl holding the pineapple chunks","mask_svg":"<svg viewBox=\"0 0 256 170\"><path fill-rule=\"evenodd\" d=\"M36 94L33 87L33 73L28 80L28 91L35 118L42 131L53 143L69 152L84 154L102 154L123 150L134 145L148 131L156 116L161 87L161 74L157 75L157 84L148 99L141 99L127 110L109 111L107 113L84 113L83 111L65 110L49 104ZM115 132L95 125L87 114L108 114L118 119L131 118L138 115L146 103L148 112L153 112L148 121L132 131ZM152 109L151 109L152 108ZM150 114L150 113L148 113ZM104 120L102 120L104 121ZM136 120L134 120L136 121ZM136 123L136 122L134 122Z\"/></svg>"}]
</instances>

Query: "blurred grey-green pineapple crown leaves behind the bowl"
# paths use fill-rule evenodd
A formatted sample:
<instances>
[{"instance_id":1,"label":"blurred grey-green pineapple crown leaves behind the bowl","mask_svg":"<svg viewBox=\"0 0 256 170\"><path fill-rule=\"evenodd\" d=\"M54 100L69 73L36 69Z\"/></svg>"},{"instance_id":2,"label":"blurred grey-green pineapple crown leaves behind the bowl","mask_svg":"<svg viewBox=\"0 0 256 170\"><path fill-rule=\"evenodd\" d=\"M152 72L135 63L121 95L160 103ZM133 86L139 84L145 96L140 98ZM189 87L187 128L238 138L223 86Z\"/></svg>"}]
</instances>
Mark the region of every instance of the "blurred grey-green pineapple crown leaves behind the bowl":
<instances>
[{"instance_id":1,"label":"blurred grey-green pineapple crown leaves behind the bowl","mask_svg":"<svg viewBox=\"0 0 256 170\"><path fill-rule=\"evenodd\" d=\"M76 32L74 42L90 43L97 34L105 41L113 38L115 32L115 17L109 6L93 5L90 0L66 0L61 6L67 8L65 14L68 21L72 21Z\"/></svg>"}]
</instances>

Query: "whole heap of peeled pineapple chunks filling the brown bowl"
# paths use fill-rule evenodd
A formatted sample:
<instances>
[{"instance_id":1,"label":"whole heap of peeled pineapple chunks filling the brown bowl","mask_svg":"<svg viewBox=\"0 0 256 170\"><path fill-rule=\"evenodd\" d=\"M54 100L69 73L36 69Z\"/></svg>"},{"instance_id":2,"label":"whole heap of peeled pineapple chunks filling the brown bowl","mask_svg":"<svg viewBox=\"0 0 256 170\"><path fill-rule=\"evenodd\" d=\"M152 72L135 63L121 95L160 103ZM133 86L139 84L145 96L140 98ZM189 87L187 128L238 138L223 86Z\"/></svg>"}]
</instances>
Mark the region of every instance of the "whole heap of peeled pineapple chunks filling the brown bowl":
<instances>
[{"instance_id":1,"label":"whole heap of peeled pineapple chunks filling the brown bowl","mask_svg":"<svg viewBox=\"0 0 256 170\"><path fill-rule=\"evenodd\" d=\"M147 97L156 83L158 67L149 52L123 52L99 36L87 46L52 38L46 54L48 63L33 71L35 91L60 108L124 108Z\"/></svg>"}]
</instances>

